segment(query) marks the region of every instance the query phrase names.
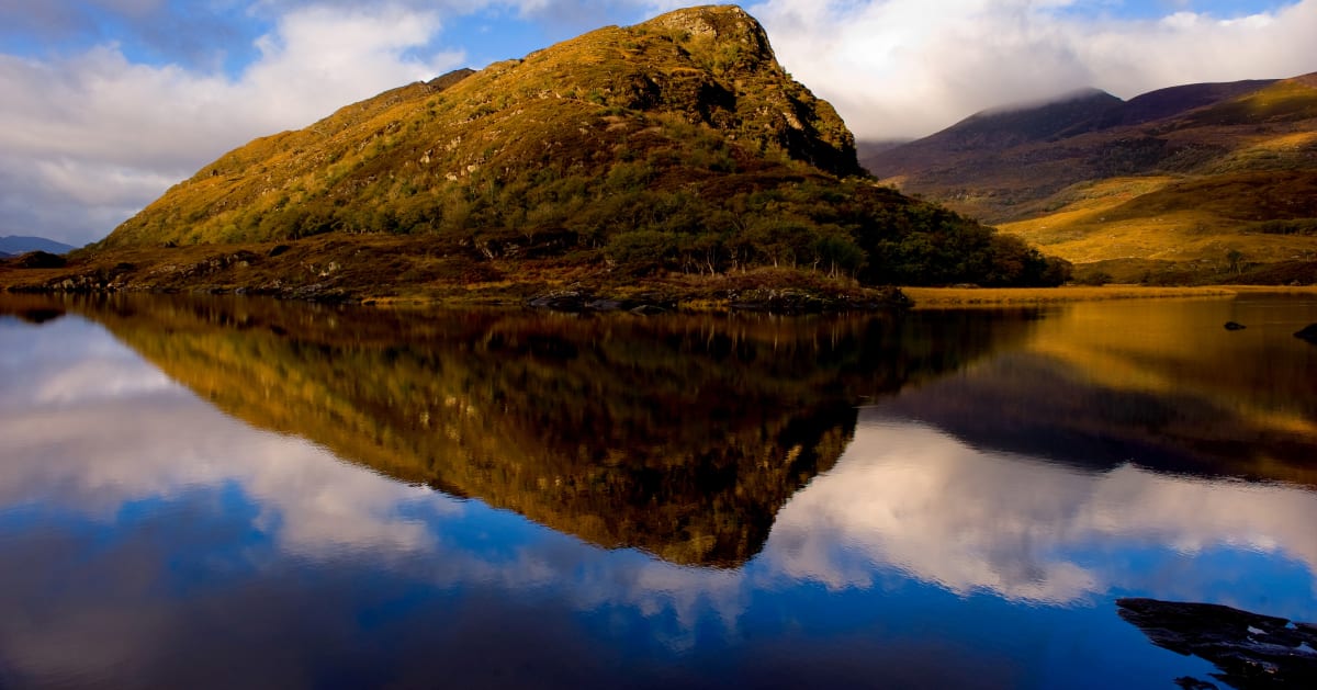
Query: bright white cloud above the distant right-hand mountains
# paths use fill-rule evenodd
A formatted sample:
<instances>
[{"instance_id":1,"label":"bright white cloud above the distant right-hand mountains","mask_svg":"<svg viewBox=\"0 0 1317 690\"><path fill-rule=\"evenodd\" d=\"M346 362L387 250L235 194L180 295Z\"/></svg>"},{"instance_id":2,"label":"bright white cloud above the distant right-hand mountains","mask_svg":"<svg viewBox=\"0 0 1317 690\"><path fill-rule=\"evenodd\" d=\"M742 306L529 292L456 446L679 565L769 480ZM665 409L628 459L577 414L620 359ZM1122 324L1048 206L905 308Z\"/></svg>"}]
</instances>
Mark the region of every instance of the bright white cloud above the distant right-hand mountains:
<instances>
[{"instance_id":1,"label":"bright white cloud above the distant right-hand mountains","mask_svg":"<svg viewBox=\"0 0 1317 690\"><path fill-rule=\"evenodd\" d=\"M748 8L793 75L861 138L931 134L985 108L1093 86L1121 97L1317 70L1317 0L1163 20L1031 0L769 0Z\"/></svg>"}]
</instances>

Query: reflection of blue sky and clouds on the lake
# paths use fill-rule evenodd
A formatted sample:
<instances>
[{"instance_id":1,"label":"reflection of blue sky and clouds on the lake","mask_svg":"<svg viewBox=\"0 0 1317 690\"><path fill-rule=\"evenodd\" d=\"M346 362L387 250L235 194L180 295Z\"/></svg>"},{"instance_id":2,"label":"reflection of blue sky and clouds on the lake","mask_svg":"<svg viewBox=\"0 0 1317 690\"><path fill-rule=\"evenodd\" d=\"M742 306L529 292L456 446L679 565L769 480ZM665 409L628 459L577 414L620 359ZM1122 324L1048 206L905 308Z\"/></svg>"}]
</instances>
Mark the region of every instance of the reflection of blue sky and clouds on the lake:
<instances>
[{"instance_id":1,"label":"reflection of blue sky and clouds on the lake","mask_svg":"<svg viewBox=\"0 0 1317 690\"><path fill-rule=\"evenodd\" d=\"M1210 665L1117 597L1317 620L1310 489L930 423L1026 356L861 408L763 549L718 569L252 428L82 317L0 317L0 685L1171 687Z\"/></svg>"}]
</instances>

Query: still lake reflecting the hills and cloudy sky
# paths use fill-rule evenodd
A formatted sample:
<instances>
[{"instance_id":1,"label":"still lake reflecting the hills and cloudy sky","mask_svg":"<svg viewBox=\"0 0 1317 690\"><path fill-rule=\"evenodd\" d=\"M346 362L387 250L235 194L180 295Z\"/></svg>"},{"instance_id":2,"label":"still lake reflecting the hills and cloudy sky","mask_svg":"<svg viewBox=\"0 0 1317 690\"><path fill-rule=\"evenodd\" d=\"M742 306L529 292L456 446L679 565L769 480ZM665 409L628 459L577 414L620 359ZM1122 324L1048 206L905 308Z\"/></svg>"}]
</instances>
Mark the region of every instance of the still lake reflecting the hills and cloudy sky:
<instances>
[{"instance_id":1,"label":"still lake reflecting the hills and cloudy sky","mask_svg":"<svg viewBox=\"0 0 1317 690\"><path fill-rule=\"evenodd\" d=\"M1117 600L1317 622L1314 321L0 295L0 687L1241 685Z\"/></svg>"}]
</instances>

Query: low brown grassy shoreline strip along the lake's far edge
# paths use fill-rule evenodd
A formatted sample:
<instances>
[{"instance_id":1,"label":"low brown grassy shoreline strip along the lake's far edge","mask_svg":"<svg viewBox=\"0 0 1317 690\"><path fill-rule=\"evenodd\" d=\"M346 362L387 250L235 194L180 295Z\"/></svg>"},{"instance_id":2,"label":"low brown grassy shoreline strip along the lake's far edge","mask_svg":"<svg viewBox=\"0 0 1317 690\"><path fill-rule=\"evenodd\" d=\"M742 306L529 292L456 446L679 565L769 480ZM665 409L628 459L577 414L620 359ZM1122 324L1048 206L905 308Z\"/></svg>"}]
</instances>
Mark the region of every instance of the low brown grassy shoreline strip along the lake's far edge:
<instances>
[{"instance_id":1,"label":"low brown grassy shoreline strip along the lake's far edge","mask_svg":"<svg viewBox=\"0 0 1317 690\"><path fill-rule=\"evenodd\" d=\"M54 258L54 257L51 257ZM901 305L885 288L828 279L817 271L756 269L719 275L644 278L598 263L475 261L436 255L424 238L316 237L286 245L140 248L74 253L59 265L0 261L0 291L212 292L379 305L518 305L537 295L579 294L684 311L856 311ZM1108 284L1036 288L902 287L914 308L1060 304L1113 299L1227 299L1239 294L1301 294L1317 287Z\"/></svg>"}]
</instances>

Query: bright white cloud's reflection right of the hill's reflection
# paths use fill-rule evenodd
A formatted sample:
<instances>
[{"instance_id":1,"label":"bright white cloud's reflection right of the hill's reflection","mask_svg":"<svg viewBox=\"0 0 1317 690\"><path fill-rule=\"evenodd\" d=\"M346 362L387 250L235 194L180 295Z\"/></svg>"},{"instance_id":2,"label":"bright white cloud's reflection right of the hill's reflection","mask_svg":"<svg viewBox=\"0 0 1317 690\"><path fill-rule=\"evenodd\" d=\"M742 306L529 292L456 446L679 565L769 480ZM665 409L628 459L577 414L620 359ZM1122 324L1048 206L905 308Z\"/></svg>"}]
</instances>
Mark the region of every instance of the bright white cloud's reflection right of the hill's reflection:
<instances>
[{"instance_id":1,"label":"bright white cloud's reflection right of the hill's reflection","mask_svg":"<svg viewBox=\"0 0 1317 690\"><path fill-rule=\"evenodd\" d=\"M1133 587L1222 603L1271 597L1274 606L1288 599L1310 608L1310 589L1252 582L1231 591L1242 573L1181 578L1139 571L1135 560L1143 549L1187 557L1243 549L1317 573L1313 520L1317 495L1308 491L982 452L871 408L838 467L781 511L765 557L784 574L830 587L868 587L894 568L959 594L1054 604Z\"/></svg>"}]
</instances>

